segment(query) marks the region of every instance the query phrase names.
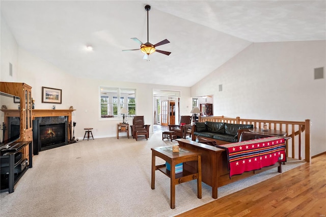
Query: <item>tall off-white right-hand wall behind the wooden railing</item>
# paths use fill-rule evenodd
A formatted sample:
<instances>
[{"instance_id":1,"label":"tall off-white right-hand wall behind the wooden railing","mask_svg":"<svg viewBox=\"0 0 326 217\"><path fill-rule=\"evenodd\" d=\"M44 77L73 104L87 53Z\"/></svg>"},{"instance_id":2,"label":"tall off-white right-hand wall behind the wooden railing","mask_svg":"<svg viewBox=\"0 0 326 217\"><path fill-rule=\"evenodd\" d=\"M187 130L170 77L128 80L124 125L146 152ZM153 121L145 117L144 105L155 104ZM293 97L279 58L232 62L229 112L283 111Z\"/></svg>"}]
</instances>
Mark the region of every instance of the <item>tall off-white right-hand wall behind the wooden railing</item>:
<instances>
[{"instance_id":1,"label":"tall off-white right-hand wall behind the wooden railing","mask_svg":"<svg viewBox=\"0 0 326 217\"><path fill-rule=\"evenodd\" d=\"M326 66L325 48L325 41L253 43L193 86L192 96L213 94L214 116L310 119L314 156L326 151L326 79L314 79L314 68Z\"/></svg>"}]
</instances>

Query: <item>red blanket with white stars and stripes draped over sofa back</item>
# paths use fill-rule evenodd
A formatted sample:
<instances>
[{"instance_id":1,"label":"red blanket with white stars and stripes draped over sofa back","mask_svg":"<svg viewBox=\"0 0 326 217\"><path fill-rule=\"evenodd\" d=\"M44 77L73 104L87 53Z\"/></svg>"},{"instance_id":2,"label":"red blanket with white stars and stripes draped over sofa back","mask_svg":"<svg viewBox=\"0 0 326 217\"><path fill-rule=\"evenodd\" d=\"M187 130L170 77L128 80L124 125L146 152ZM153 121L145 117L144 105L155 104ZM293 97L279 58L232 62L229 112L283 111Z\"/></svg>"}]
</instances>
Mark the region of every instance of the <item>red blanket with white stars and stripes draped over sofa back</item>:
<instances>
[{"instance_id":1,"label":"red blanket with white stars and stripes draped over sofa back","mask_svg":"<svg viewBox=\"0 0 326 217\"><path fill-rule=\"evenodd\" d=\"M229 143L218 147L227 150L230 178L286 161L285 141L279 137Z\"/></svg>"}]
</instances>

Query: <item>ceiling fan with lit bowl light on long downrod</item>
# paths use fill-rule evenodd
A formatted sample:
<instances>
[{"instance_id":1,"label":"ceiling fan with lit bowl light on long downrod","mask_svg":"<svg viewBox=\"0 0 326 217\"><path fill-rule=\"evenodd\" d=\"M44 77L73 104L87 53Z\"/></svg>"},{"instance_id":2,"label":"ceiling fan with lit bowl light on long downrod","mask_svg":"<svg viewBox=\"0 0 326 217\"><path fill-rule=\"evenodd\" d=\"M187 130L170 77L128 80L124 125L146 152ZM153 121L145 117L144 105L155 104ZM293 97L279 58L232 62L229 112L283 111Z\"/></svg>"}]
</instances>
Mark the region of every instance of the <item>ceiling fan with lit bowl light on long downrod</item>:
<instances>
[{"instance_id":1,"label":"ceiling fan with lit bowl light on long downrod","mask_svg":"<svg viewBox=\"0 0 326 217\"><path fill-rule=\"evenodd\" d=\"M148 55L150 55L151 53L153 53L155 51L169 56L171 52L156 49L156 47L159 45L170 43L170 41L168 39L160 41L154 45L149 43L149 40L148 40L148 11L151 10L151 6L146 5L145 10L147 11L147 42L143 43L138 38L131 38L135 42L138 42L141 45L141 47L139 49L128 49L128 50L122 50L122 51L141 50L143 53L145 53L144 58L143 58L145 60L148 59Z\"/></svg>"}]
</instances>

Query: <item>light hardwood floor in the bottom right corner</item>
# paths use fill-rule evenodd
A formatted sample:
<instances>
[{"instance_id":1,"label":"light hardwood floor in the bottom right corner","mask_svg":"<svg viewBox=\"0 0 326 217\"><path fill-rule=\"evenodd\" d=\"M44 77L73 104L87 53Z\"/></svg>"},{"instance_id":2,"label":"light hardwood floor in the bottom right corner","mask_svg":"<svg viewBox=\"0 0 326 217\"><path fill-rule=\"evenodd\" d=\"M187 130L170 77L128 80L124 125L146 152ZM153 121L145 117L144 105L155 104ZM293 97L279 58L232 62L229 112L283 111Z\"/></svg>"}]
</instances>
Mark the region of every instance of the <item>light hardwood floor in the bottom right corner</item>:
<instances>
[{"instance_id":1,"label":"light hardwood floor in the bottom right corner","mask_svg":"<svg viewBox=\"0 0 326 217\"><path fill-rule=\"evenodd\" d=\"M181 216L325 216L326 154Z\"/></svg>"}]
</instances>

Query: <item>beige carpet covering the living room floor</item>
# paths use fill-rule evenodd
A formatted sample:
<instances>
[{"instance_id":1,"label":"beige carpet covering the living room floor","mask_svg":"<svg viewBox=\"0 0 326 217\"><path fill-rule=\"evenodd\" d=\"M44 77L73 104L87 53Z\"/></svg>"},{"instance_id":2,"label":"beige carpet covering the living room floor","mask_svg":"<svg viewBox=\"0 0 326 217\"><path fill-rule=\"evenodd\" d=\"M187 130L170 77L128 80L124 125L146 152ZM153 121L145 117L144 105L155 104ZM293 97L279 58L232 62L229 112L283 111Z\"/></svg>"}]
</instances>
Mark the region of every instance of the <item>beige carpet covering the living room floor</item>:
<instances>
[{"instance_id":1,"label":"beige carpet covering the living room floor","mask_svg":"<svg viewBox=\"0 0 326 217\"><path fill-rule=\"evenodd\" d=\"M213 201L211 187L196 181L176 185L176 208L170 208L170 180L156 171L151 189L151 148L172 145L153 133L148 141L122 137L79 141L40 152L33 168L1 193L1 216L173 216ZM156 164L164 163L160 158ZM303 164L290 160L287 171ZM266 171L219 188L219 198L279 173Z\"/></svg>"}]
</instances>

